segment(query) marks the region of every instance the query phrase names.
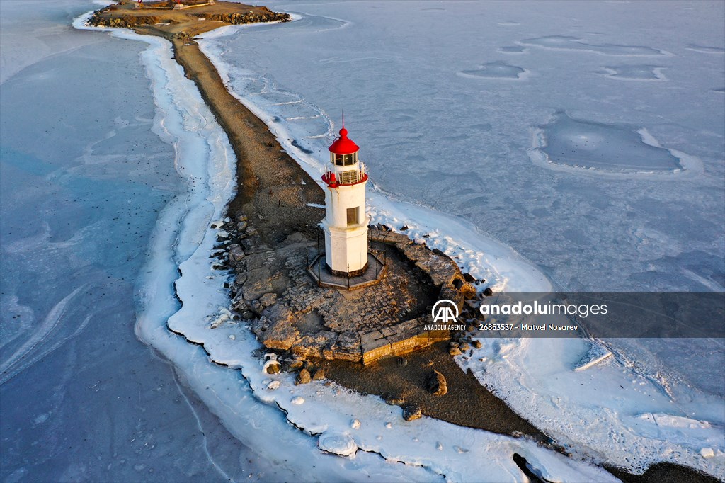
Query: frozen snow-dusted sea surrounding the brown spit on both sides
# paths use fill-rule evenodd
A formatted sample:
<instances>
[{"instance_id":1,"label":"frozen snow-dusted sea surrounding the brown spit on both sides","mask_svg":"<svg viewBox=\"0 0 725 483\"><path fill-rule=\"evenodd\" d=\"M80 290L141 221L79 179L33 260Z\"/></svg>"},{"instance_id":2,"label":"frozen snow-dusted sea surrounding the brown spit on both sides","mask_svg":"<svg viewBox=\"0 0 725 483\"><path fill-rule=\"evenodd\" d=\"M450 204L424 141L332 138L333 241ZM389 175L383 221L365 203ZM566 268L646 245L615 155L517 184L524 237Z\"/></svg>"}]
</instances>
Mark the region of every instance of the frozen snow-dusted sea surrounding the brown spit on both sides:
<instances>
[{"instance_id":1,"label":"frozen snow-dusted sea surrounding the brown spit on both sides","mask_svg":"<svg viewBox=\"0 0 725 483\"><path fill-rule=\"evenodd\" d=\"M4 19L7 4L0 4ZM56 5L57 17L64 9L66 16L82 11L75 1ZM555 9L538 2L273 4L302 12L287 24L212 33L202 46L233 92L315 178L334 137L332 119L344 107L374 183L368 208L375 220L405 223L414 238L429 235L429 244L497 289L722 290L725 61L717 25L723 9L704 2L694 9L668 5L671 11L663 13L645 3L566 2ZM670 35L675 20L687 25L676 37ZM103 49L84 50L88 40L78 40L80 34L103 39ZM262 373L262 362L252 357L257 342L244 326L228 321L211 329L228 304L225 275L213 271L208 258L215 241L210 226L233 194L228 142L165 42L113 35L109 41L99 33L65 31L60 38L75 37L77 44L46 39L57 51L37 49L30 68L2 84L4 480L107 479L123 471L143 479L188 479L199 471L233 480L252 473L268 480L324 474L423 481L445 474L451 481L513 481L524 479L514 453L556 481L607 478L588 461L634 471L675 461L725 476L721 340L605 341L615 355L584 371L573 368L589 342L575 339L488 339L473 358L459 359L573 458L430 418L405 424L399 408L376 397L317 382L295 387L286 374ZM29 36L43 38L42 32ZM116 51L122 42L128 44L125 62ZM143 70L133 70L139 52L155 110L134 115L118 103L109 114L108 105L117 104L107 97L118 91L146 99L145 109L152 109L149 81ZM72 59L76 63L69 64ZM107 59L117 63L104 64ZM119 65L127 70L114 70ZM65 97L54 92L59 84L67 86ZM5 95L28 102L37 95L34 86L47 96L36 111L13 106ZM100 102L96 118L49 115L72 112L74 102L89 96ZM59 97L67 105L49 110ZM50 131L57 138L38 147L22 129L31 120L41 120L36 136ZM6 141L11 132L13 143ZM84 134L88 141L78 137ZM6 144L25 157L6 157ZM134 158L138 145L160 151ZM636 146L642 159L610 159L624 145ZM562 155L566 146L581 165ZM60 155L64 149L72 153ZM33 152L59 166L28 162ZM32 176L9 184L8 173L25 178L9 171L17 168L6 160L19 160L15 164ZM628 176L632 170L636 176ZM127 178L130 185L119 182ZM133 189L139 185L152 189ZM80 212L63 205L67 194L54 191L58 186L85 194ZM94 189L103 196L88 196ZM46 200L46 207L31 209L22 194ZM99 206L115 212L83 218ZM38 235L38 226L48 228ZM70 258L33 256L38 252ZM18 267L37 263L9 275L8 259ZM79 263L90 268L81 270ZM94 275L99 272L114 278ZM38 284L37 273L46 276L43 296L28 297L22 284ZM113 289L107 285L102 294L79 300L103 284ZM101 323L128 329L133 285L136 334L173 363L175 377L146 363L149 352L128 337L114 347L122 360L104 349L112 344L104 339L111 329ZM202 342L209 355L171 334L167 323ZM112 334L115 341L119 336ZM73 341L81 337L78 350ZM73 361L94 357L107 363L92 373ZM123 362L129 358L138 366ZM117 375L127 364L130 374ZM705 365L711 371L699 370ZM51 387L72 397L25 415L18 402L23 389L54 393L43 384L53 381L56 366L62 377ZM108 403L108 424L99 427L91 418L83 433L73 426L73 411L88 411L85 401L93 400L76 396L83 394L72 389L79 386L104 391L96 399ZM165 397L174 395L169 405ZM12 417L8 401L16 408ZM136 406L129 409L127 401ZM90 413L103 413L94 409ZM28 417L33 422L25 424ZM173 424L163 422L169 418ZM30 426L31 432L22 431ZM10 432L12 441L5 436ZM47 434L55 439L44 456L36 439ZM99 452L80 443L83 438L111 449ZM80 449L65 450L74 439ZM187 445L190 440L196 444ZM347 458L319 449L349 453L355 447L360 450ZM28 461L19 463L22 458ZM273 463L276 469L269 470Z\"/></svg>"}]
</instances>

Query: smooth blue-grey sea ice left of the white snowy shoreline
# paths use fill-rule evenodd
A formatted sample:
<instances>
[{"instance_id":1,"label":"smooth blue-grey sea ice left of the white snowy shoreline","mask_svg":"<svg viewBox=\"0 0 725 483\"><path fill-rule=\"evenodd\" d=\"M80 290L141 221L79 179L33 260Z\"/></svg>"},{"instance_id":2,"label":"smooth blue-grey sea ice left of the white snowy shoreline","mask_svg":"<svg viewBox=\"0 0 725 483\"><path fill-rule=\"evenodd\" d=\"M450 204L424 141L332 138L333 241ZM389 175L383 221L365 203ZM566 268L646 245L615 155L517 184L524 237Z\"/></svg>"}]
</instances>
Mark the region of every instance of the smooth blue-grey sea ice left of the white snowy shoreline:
<instances>
[{"instance_id":1,"label":"smooth blue-grey sea ice left of the white snowy shoreline","mask_svg":"<svg viewBox=\"0 0 725 483\"><path fill-rule=\"evenodd\" d=\"M152 132L146 45L70 27L92 7L0 4L0 481L260 478L134 332L151 232L181 183Z\"/></svg>"}]
</instances>

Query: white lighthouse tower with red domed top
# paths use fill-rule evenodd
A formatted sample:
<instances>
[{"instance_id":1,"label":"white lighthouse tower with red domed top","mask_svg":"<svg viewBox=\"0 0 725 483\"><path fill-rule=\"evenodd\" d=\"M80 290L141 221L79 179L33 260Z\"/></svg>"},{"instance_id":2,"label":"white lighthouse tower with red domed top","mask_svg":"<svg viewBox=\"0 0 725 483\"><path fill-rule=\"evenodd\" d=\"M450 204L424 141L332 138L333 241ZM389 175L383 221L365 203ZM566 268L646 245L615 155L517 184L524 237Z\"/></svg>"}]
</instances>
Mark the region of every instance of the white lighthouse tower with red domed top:
<instances>
[{"instance_id":1,"label":"white lighthouse tower with red domed top","mask_svg":"<svg viewBox=\"0 0 725 483\"><path fill-rule=\"evenodd\" d=\"M340 137L328 149L331 165L322 178L327 184L323 220L325 261L334 275L359 276L368 268L368 175L357 159L360 148L347 137L344 121Z\"/></svg>"}]
</instances>

